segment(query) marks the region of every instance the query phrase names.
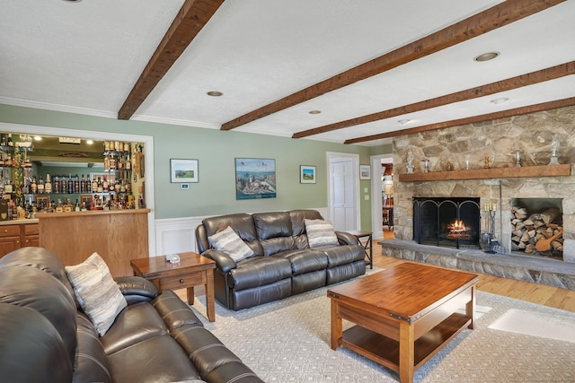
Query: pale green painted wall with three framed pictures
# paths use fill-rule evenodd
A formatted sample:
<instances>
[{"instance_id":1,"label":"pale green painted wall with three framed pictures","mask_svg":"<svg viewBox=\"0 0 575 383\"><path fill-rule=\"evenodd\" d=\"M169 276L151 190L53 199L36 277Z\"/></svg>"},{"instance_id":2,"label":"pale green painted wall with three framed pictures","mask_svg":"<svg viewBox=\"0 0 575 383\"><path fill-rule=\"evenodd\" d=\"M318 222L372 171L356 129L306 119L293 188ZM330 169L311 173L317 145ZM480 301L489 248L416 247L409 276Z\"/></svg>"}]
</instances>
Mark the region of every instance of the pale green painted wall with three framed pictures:
<instances>
[{"instance_id":1,"label":"pale green painted wall with three framed pictures","mask_svg":"<svg viewBox=\"0 0 575 383\"><path fill-rule=\"evenodd\" d=\"M222 132L190 126L142 121L123 121L42 109L0 104L0 121L154 137L155 217L178 218L219 213L262 212L327 206L326 152L356 153L359 163L371 155L391 152L391 145L366 147L329 144L241 132ZM48 134L48 132L47 132ZM234 189L234 159L276 160L277 198L237 201ZM183 191L170 183L170 159L199 160L199 183ZM299 183L299 165L314 165L317 184ZM363 198L370 181L360 182L361 229L371 228L371 201Z\"/></svg>"}]
</instances>

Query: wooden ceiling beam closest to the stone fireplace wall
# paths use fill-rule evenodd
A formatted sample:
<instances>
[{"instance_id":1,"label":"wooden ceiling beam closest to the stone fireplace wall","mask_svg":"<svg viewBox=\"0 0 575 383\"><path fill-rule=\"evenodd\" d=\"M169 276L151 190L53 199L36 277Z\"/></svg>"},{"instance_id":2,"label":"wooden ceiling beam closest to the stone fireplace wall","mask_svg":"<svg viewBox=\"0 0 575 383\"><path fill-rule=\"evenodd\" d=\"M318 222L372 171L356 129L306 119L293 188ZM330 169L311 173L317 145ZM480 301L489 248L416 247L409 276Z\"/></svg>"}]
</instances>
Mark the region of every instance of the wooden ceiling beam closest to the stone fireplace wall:
<instances>
[{"instance_id":1,"label":"wooden ceiling beam closest to the stone fireplace wall","mask_svg":"<svg viewBox=\"0 0 575 383\"><path fill-rule=\"evenodd\" d=\"M540 104L528 105L526 107L520 107L515 109L501 110L499 112L487 113L480 116L473 116L469 118L459 118L450 121L438 122L435 124L415 126L408 129L395 130L393 132L381 133L378 135L366 135L365 137L351 138L349 140L346 140L344 144L359 144L359 143L366 143L367 141L375 141L375 140L382 140L385 138L397 137L399 135L413 135L416 133L428 132L429 130L442 129L451 126L474 124L478 122L491 121L499 118L511 118L514 116L541 112L549 109L572 107L573 105L575 105L575 97L563 100L548 101Z\"/></svg>"}]
</instances>

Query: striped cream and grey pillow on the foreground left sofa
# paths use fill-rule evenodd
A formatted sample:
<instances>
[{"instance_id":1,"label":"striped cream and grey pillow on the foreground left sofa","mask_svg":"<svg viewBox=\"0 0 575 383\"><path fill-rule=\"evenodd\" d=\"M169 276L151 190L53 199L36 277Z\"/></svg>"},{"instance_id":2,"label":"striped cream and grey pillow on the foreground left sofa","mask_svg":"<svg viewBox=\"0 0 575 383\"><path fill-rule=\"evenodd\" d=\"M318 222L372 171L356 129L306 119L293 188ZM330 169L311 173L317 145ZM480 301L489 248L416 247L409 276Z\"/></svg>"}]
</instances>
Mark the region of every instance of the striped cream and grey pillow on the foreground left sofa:
<instances>
[{"instance_id":1,"label":"striped cream and grey pillow on the foreground left sofa","mask_svg":"<svg viewBox=\"0 0 575 383\"><path fill-rule=\"evenodd\" d=\"M128 303L98 253L79 265L66 266L76 299L102 336Z\"/></svg>"}]
</instances>

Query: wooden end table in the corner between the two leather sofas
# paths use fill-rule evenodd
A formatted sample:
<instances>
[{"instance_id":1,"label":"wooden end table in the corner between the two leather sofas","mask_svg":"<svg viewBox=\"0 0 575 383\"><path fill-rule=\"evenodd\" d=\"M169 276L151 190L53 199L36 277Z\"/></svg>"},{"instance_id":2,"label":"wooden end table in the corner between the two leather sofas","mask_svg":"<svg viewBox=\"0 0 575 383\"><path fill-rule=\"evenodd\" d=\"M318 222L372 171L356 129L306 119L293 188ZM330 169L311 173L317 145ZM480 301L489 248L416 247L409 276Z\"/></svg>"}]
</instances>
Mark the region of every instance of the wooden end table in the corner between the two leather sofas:
<instances>
[{"instance_id":1,"label":"wooden end table in the corner between the two leather sofas","mask_svg":"<svg viewBox=\"0 0 575 383\"><path fill-rule=\"evenodd\" d=\"M214 300L214 269L216 262L197 253L178 253L180 263L172 264L165 257L147 257L132 259L129 265L134 275L142 276L155 284L159 291L187 289L188 303L194 304L194 286L206 287L206 306L208 320L216 320Z\"/></svg>"}]
</instances>

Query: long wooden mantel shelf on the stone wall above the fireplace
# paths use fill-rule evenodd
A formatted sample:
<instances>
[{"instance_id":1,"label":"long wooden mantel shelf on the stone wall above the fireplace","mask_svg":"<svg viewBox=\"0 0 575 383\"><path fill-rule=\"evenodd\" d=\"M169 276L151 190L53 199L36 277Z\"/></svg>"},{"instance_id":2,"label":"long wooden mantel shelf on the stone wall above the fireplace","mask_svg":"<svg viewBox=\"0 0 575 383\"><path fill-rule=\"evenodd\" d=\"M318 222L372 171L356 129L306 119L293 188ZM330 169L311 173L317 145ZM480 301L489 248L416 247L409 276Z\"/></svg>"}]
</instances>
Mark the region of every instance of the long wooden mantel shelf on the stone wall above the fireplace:
<instances>
[{"instance_id":1,"label":"long wooden mantel shelf on the stone wall above the fireplace","mask_svg":"<svg viewBox=\"0 0 575 383\"><path fill-rule=\"evenodd\" d=\"M431 171L428 173L400 174L402 182L450 181L456 179L535 178L571 176L571 163L560 165L526 166L521 168L490 168L473 170Z\"/></svg>"}]
</instances>

